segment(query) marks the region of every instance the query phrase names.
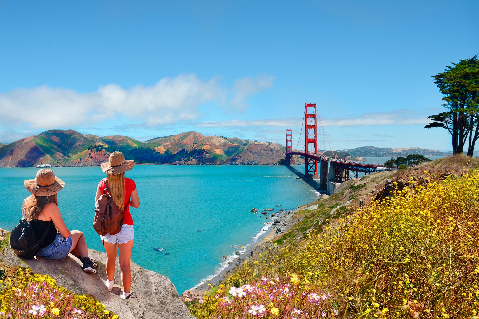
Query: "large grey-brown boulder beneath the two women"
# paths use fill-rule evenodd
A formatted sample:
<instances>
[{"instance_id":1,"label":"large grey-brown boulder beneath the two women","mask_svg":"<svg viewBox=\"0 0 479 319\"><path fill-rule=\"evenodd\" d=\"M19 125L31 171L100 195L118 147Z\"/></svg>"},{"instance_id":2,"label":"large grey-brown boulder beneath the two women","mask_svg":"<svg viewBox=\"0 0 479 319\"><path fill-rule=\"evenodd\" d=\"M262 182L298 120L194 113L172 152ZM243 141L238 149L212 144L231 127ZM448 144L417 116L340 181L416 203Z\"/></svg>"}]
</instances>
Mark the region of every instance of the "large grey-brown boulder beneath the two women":
<instances>
[{"instance_id":1,"label":"large grey-brown boulder beneath the two women","mask_svg":"<svg viewBox=\"0 0 479 319\"><path fill-rule=\"evenodd\" d=\"M188 308L178 296L171 281L155 272L131 263L132 289L136 298L121 299L121 286L114 285L109 292L104 285L106 279L106 254L89 250L91 259L98 263L97 274L86 274L80 266L80 260L68 255L65 260L51 260L35 257L32 260L18 258L6 247L0 253L5 264L30 267L37 274L49 275L59 286L77 294L88 294L100 301L108 310L113 311L121 319L194 319ZM116 283L121 284L120 266L116 260Z\"/></svg>"}]
</instances>

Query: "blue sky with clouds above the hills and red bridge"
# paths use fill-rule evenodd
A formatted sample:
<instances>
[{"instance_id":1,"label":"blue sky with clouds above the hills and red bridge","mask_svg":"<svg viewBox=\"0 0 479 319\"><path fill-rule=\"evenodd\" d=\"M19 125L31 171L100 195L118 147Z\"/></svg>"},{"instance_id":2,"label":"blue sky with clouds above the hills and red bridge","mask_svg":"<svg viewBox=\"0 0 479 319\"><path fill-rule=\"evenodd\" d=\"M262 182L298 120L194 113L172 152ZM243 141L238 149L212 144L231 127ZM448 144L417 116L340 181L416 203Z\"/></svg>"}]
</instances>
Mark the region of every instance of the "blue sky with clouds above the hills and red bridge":
<instances>
[{"instance_id":1,"label":"blue sky with clouds above the hills and red bridge","mask_svg":"<svg viewBox=\"0 0 479 319\"><path fill-rule=\"evenodd\" d=\"M479 54L478 11L473 0L0 0L0 142L71 128L284 143L317 102L333 149L450 150L445 130L424 128L442 104L431 76Z\"/></svg>"}]
</instances>

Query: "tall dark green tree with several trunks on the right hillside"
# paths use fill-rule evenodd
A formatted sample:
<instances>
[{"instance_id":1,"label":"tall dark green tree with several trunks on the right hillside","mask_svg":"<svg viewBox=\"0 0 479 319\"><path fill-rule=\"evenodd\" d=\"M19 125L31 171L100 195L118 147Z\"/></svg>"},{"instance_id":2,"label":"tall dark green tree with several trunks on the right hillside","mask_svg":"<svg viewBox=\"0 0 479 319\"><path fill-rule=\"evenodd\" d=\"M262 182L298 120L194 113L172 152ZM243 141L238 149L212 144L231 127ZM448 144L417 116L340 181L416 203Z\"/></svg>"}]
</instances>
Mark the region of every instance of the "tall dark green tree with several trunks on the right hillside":
<instances>
[{"instance_id":1,"label":"tall dark green tree with several trunks on the right hillside","mask_svg":"<svg viewBox=\"0 0 479 319\"><path fill-rule=\"evenodd\" d=\"M444 72L433 76L434 84L443 94L442 106L446 109L428 119L433 120L425 127L441 127L452 136L454 154L463 153L468 147L472 156L479 138L479 60L477 55L446 66Z\"/></svg>"}]
</instances>

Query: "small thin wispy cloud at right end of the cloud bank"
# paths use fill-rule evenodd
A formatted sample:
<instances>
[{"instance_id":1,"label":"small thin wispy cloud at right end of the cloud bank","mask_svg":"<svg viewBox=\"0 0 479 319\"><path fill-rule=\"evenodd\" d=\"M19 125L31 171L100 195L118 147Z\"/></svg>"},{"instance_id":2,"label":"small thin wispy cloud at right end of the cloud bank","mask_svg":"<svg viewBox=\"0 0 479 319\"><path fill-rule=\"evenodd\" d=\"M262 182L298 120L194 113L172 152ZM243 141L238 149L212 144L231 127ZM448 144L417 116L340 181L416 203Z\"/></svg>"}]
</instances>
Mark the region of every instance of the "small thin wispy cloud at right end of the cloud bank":
<instances>
[{"instance_id":1,"label":"small thin wispy cloud at right end of the cloud bank","mask_svg":"<svg viewBox=\"0 0 479 319\"><path fill-rule=\"evenodd\" d=\"M258 75L256 77L236 79L231 88L235 96L229 100L230 109L246 110L249 107L249 104L247 104L248 97L271 88L275 78L274 76Z\"/></svg>"}]
</instances>

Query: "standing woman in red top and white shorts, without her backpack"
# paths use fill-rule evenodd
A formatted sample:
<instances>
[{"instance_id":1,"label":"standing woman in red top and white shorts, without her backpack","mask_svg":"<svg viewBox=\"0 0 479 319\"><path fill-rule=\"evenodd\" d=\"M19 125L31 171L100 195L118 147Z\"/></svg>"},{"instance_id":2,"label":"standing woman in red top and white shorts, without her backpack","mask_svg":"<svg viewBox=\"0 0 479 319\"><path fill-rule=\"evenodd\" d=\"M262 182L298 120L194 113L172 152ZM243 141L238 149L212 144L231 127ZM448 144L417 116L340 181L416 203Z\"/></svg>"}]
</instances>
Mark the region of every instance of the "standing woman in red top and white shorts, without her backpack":
<instances>
[{"instance_id":1,"label":"standing woman in red top and white shorts, without her backpack","mask_svg":"<svg viewBox=\"0 0 479 319\"><path fill-rule=\"evenodd\" d=\"M121 152L113 152L110 154L108 163L102 164L102 171L106 173L106 178L103 178L98 184L96 190L95 202L102 196L107 194L107 185L110 189L110 196L114 204L124 212L123 226L119 233L101 236L105 247L106 259L106 279L105 285L109 291L112 291L115 282L115 261L116 261L116 246L118 244L119 262L121 268L121 279L123 283L122 293L120 297L126 299L133 293L131 289L131 251L133 249L133 218L130 214L129 206L139 207L140 199L138 198L137 185L133 179L125 178L125 171L131 171L135 165L134 161L125 161L125 156Z\"/></svg>"}]
</instances>

